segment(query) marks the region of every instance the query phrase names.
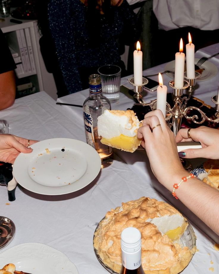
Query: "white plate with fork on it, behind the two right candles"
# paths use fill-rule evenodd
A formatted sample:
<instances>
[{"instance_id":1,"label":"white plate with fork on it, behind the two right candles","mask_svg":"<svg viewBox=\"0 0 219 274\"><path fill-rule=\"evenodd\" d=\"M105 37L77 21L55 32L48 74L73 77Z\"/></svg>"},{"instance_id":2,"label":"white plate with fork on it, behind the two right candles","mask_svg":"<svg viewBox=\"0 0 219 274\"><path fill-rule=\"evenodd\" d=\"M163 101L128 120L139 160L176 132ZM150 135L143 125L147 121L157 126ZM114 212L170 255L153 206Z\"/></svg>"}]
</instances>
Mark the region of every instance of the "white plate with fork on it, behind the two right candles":
<instances>
[{"instance_id":1,"label":"white plate with fork on it, behind the two right candles","mask_svg":"<svg viewBox=\"0 0 219 274\"><path fill-rule=\"evenodd\" d=\"M195 64L198 62L200 58L195 58ZM209 80L213 77L215 77L215 75L217 75L218 73L218 68L211 62L209 61L205 61L201 66L201 69L204 69L201 72L201 76L200 78L198 78L196 81L200 82L200 81L206 81ZM169 71L175 71L175 60L169 62L166 64L164 70L169 70ZM186 68L185 68L186 70ZM174 74L171 72L167 72L166 73L170 78L174 79Z\"/></svg>"}]
</instances>

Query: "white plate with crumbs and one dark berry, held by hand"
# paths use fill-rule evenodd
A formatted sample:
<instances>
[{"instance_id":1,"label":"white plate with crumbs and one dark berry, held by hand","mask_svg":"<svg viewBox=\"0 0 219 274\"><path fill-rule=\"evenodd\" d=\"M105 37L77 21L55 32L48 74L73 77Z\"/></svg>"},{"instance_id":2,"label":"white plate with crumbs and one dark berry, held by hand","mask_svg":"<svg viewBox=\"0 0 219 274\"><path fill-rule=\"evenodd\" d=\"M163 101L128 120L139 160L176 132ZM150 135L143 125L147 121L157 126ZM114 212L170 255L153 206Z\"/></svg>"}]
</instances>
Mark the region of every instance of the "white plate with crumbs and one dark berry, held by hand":
<instances>
[{"instance_id":1,"label":"white plate with crumbs and one dark berry, held by hand","mask_svg":"<svg viewBox=\"0 0 219 274\"><path fill-rule=\"evenodd\" d=\"M98 152L79 140L54 138L31 148L31 153L15 159L13 175L21 186L38 194L75 192L91 183L101 168Z\"/></svg>"}]
</instances>

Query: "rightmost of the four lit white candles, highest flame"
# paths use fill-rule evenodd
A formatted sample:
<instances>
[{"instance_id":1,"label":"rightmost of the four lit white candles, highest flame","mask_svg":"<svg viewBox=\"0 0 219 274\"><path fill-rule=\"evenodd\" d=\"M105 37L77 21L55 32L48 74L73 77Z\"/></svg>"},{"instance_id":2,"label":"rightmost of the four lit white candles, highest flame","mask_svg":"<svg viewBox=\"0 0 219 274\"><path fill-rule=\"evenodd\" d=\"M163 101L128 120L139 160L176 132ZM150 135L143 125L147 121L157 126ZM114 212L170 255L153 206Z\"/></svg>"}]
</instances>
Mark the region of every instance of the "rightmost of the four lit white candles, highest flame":
<instances>
[{"instance_id":1,"label":"rightmost of the four lit white candles, highest flame","mask_svg":"<svg viewBox=\"0 0 219 274\"><path fill-rule=\"evenodd\" d=\"M186 74L187 78L195 78L195 46L189 33L189 43L186 45Z\"/></svg>"}]
</instances>

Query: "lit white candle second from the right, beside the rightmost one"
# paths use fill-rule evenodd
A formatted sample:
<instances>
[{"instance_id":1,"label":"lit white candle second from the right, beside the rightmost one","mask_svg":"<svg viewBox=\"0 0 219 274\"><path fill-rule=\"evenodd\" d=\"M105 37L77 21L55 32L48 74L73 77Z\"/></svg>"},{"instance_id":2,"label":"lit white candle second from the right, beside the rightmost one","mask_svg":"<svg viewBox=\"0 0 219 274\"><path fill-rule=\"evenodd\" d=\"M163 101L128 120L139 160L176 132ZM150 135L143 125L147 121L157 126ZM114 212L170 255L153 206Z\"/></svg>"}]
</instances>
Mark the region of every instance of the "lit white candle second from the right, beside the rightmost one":
<instances>
[{"instance_id":1,"label":"lit white candle second from the right, beside the rightmost one","mask_svg":"<svg viewBox=\"0 0 219 274\"><path fill-rule=\"evenodd\" d=\"M185 66L185 54L183 53L182 38L180 39L179 52L175 54L175 77L174 87L182 88L184 86L184 66Z\"/></svg>"}]
</instances>

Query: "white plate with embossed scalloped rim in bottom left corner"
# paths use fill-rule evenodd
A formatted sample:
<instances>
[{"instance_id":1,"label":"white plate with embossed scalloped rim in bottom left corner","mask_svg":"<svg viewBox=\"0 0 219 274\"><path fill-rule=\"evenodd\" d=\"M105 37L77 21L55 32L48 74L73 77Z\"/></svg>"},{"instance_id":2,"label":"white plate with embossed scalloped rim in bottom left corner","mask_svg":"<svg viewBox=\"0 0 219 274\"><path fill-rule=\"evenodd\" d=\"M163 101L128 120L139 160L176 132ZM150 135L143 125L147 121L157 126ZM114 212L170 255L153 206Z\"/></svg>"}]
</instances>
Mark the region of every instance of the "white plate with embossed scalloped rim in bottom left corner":
<instances>
[{"instance_id":1,"label":"white plate with embossed scalloped rim in bottom left corner","mask_svg":"<svg viewBox=\"0 0 219 274\"><path fill-rule=\"evenodd\" d=\"M5 250L0 256L0 268L9 263L17 271L32 274L78 274L64 253L41 243L24 243Z\"/></svg>"}]
</instances>

